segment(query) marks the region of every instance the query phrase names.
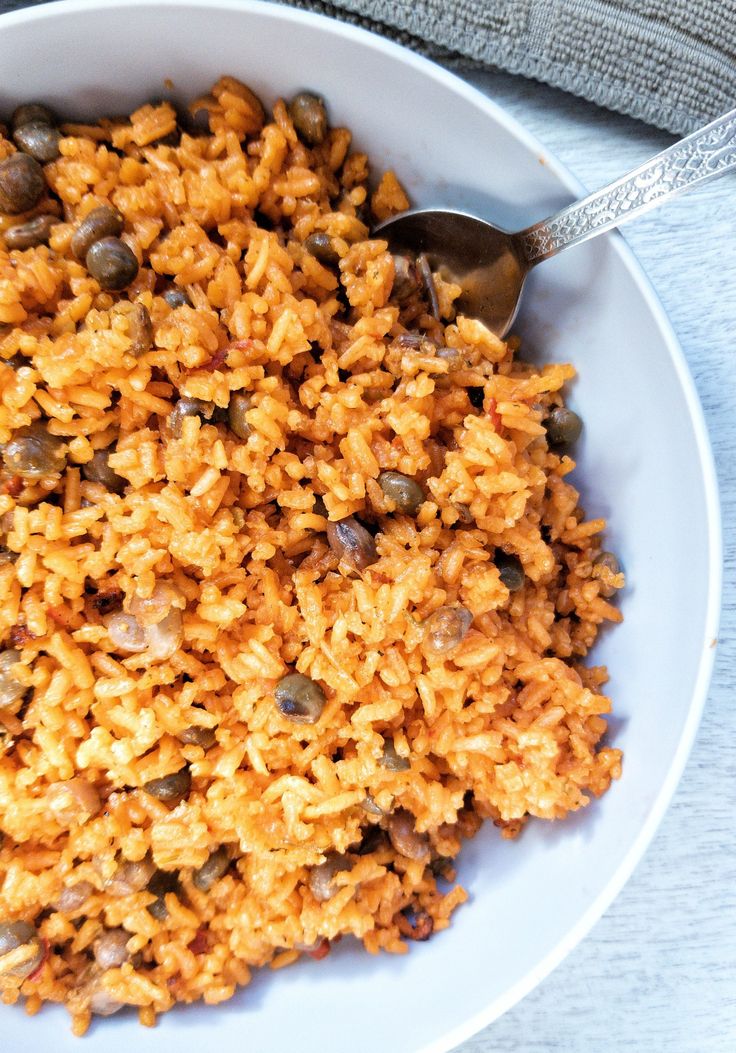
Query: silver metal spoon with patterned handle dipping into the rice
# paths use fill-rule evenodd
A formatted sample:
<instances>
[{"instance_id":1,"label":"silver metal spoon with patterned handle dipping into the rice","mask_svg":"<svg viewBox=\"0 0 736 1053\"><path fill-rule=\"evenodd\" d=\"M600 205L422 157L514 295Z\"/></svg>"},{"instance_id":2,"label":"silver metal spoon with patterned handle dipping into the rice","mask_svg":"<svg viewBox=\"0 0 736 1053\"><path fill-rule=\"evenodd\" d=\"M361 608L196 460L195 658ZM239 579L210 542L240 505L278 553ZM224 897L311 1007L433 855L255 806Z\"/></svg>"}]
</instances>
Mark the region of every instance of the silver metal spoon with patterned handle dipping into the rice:
<instances>
[{"instance_id":1,"label":"silver metal spoon with patterned handle dipping into the rice","mask_svg":"<svg viewBox=\"0 0 736 1053\"><path fill-rule=\"evenodd\" d=\"M404 212L381 223L376 233L387 239L392 252L423 255L440 277L461 285L458 310L503 336L516 317L526 275L537 263L733 167L736 110L517 234L476 216L438 208Z\"/></svg>"}]
</instances>

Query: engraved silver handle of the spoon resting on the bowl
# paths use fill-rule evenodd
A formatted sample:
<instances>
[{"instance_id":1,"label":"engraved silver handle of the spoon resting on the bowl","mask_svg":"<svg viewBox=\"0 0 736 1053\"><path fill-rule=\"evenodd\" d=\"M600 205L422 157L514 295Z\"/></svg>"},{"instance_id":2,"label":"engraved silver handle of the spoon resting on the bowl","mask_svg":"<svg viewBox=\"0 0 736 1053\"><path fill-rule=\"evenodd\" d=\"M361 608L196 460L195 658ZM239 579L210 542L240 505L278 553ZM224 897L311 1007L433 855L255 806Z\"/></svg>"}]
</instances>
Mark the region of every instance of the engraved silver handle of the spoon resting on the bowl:
<instances>
[{"instance_id":1,"label":"engraved silver handle of the spoon resting on the bowl","mask_svg":"<svg viewBox=\"0 0 736 1053\"><path fill-rule=\"evenodd\" d=\"M680 139L616 182L520 231L517 244L534 265L640 216L736 167L736 110Z\"/></svg>"}]
</instances>

